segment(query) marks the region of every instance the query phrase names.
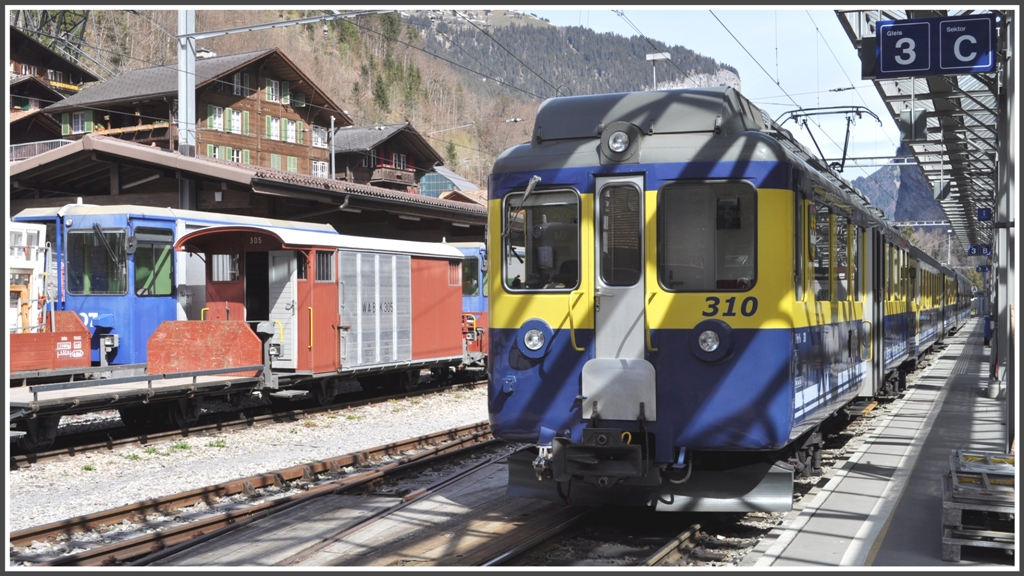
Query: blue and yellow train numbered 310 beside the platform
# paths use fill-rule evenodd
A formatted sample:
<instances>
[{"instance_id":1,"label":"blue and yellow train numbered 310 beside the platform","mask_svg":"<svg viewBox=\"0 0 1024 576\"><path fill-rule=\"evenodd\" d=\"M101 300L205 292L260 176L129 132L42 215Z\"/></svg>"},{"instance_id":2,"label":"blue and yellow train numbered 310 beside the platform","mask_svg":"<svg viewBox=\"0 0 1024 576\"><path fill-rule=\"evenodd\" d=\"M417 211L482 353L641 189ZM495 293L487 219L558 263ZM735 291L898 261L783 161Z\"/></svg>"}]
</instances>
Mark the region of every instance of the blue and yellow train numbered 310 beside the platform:
<instances>
[{"instance_id":1,"label":"blue and yellow train numbered 310 beside the platform","mask_svg":"<svg viewBox=\"0 0 1024 576\"><path fill-rule=\"evenodd\" d=\"M727 87L559 97L489 182L509 493L786 510L820 426L966 322L969 286Z\"/></svg>"}]
</instances>

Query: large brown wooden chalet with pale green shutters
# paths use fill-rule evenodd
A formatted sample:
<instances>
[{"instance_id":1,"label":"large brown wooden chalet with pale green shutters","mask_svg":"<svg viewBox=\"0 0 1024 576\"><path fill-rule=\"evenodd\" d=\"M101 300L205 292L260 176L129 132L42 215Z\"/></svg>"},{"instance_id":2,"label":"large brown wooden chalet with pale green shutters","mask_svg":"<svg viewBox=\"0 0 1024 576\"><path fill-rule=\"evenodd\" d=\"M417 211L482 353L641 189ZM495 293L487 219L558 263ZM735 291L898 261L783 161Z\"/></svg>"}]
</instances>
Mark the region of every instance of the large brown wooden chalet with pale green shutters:
<instances>
[{"instance_id":1,"label":"large brown wooden chalet with pale green shutters","mask_svg":"<svg viewBox=\"0 0 1024 576\"><path fill-rule=\"evenodd\" d=\"M127 72L44 109L62 137L105 135L176 150L175 66ZM352 121L276 48L196 59L199 156L327 177L328 135Z\"/></svg>"}]
</instances>

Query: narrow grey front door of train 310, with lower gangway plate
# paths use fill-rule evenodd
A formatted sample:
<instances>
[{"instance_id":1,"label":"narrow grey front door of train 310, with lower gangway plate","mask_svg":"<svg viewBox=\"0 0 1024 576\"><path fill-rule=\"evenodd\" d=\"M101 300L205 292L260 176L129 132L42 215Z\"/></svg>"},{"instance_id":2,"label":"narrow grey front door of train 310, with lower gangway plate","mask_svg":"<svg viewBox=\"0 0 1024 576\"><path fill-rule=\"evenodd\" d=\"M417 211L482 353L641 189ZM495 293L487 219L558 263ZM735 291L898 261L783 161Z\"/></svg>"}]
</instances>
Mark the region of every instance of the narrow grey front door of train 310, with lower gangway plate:
<instances>
[{"instance_id":1,"label":"narrow grey front door of train 310, with lower gangway plate","mask_svg":"<svg viewBox=\"0 0 1024 576\"><path fill-rule=\"evenodd\" d=\"M584 366L584 417L654 420L654 369L644 347L643 176L596 184L594 358Z\"/></svg>"}]
</instances>

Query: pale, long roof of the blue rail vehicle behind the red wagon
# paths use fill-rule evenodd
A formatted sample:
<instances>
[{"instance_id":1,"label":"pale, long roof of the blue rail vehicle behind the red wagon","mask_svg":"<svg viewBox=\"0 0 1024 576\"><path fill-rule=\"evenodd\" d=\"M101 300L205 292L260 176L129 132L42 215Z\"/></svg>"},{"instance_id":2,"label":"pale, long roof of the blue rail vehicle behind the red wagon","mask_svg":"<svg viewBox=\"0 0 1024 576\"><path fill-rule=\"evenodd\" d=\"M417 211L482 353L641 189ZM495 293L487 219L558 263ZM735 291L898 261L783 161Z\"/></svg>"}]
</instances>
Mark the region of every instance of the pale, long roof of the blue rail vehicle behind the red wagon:
<instances>
[{"instance_id":1,"label":"pale, long roof of the blue rail vehicle behind the red wagon","mask_svg":"<svg viewBox=\"0 0 1024 576\"><path fill-rule=\"evenodd\" d=\"M250 224L250 225L270 225L283 229L319 231L324 233L335 232L331 224L317 222L302 222L293 220L283 220L278 218L264 218L262 216L243 216L240 214L222 214L217 212L201 212L199 210L182 210L179 208L159 208L156 206L137 206L133 204L115 204L110 206L99 206L96 204L68 204L61 207L46 208L26 208L12 220L34 220L56 215L118 215L125 214L135 217L166 218L168 220L188 220L193 222L209 222L209 224Z\"/></svg>"}]
</instances>

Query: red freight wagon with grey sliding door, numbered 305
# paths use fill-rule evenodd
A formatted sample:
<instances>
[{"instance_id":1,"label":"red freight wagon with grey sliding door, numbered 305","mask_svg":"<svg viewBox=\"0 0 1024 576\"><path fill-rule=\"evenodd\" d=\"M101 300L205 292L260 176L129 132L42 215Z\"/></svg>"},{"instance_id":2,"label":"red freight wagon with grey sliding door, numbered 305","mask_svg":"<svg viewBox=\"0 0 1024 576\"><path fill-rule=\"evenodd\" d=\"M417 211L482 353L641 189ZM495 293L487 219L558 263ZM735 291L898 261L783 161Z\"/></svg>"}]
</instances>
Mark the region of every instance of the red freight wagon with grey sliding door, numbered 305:
<instances>
[{"instance_id":1,"label":"red freight wagon with grey sliding door, numbered 305","mask_svg":"<svg viewBox=\"0 0 1024 576\"><path fill-rule=\"evenodd\" d=\"M418 378L462 363L462 253L452 246L221 225L175 248L203 255L207 307L202 321L164 323L150 342L150 373L265 358L276 387L386 372Z\"/></svg>"}]
</instances>

